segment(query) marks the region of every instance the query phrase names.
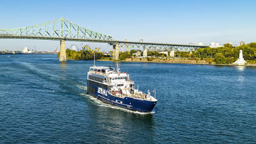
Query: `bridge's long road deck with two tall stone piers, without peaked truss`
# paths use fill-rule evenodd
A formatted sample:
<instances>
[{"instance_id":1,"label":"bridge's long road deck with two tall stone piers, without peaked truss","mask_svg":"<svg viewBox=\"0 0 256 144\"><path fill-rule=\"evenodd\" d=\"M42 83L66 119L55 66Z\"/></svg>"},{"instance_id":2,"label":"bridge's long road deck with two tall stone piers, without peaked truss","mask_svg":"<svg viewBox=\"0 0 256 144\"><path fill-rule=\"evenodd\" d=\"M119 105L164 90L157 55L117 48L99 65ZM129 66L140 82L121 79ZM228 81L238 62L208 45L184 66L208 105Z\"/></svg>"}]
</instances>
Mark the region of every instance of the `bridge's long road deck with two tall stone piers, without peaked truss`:
<instances>
[{"instance_id":1,"label":"bridge's long road deck with two tall stone piers, without peaked truss","mask_svg":"<svg viewBox=\"0 0 256 144\"><path fill-rule=\"evenodd\" d=\"M60 61L67 61L65 41L76 42L99 42L113 45L113 59L118 60L119 47L136 47L143 49L152 49L155 51L195 51L198 48L205 48L203 45L180 45L167 43L153 43L153 42L129 42L120 40L101 40L90 38L64 38L64 37L49 37L49 36L15 36L15 35L0 35L0 38L20 38L20 39L36 39L36 40L60 40Z\"/></svg>"}]
</instances>

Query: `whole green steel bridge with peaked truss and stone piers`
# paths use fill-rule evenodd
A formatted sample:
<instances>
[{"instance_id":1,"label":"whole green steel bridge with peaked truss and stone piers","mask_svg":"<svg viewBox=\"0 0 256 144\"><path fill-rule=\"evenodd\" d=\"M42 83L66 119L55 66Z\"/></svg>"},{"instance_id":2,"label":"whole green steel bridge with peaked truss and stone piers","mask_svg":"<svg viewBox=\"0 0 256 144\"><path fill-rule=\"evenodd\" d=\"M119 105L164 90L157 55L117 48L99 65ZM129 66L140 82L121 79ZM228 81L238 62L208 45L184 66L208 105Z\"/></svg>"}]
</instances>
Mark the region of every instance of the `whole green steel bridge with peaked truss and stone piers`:
<instances>
[{"instance_id":1,"label":"whole green steel bridge with peaked truss and stone piers","mask_svg":"<svg viewBox=\"0 0 256 144\"><path fill-rule=\"evenodd\" d=\"M83 28L65 18L45 22L24 28L0 29L0 38L23 38L37 40L60 40L60 61L66 61L65 41L99 42L113 45L113 59L118 59L119 47L148 49L154 51L195 51L202 45L179 45L152 42L129 42L115 40L112 36L103 35Z\"/></svg>"}]
</instances>

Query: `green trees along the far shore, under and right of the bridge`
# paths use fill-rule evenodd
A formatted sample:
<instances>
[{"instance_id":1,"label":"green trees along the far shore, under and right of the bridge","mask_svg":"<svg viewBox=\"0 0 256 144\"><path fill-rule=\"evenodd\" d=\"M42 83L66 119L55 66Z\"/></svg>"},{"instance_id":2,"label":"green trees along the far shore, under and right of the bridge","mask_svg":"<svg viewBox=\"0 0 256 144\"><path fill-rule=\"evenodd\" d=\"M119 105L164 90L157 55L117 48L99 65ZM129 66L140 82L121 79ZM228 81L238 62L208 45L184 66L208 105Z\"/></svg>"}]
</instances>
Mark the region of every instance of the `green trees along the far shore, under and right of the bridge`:
<instances>
[{"instance_id":1,"label":"green trees along the far shore, under and right of the bridge","mask_svg":"<svg viewBox=\"0 0 256 144\"><path fill-rule=\"evenodd\" d=\"M243 51L243 58L247 63L256 63L256 42L250 44L244 44L237 47L233 47L231 44L225 44L223 47L211 48L199 48L196 51L176 51L175 56L180 58L191 58L195 60L207 60L209 63L213 61L217 64L230 64L234 63L239 58L239 51ZM132 58L135 50L130 52L120 52L119 60L126 60ZM142 55L143 52L141 52ZM168 52L168 55L170 52ZM93 53L90 51L74 51L67 49L66 55L68 60L93 60ZM157 51L148 51L148 56L152 58L165 57L166 54L161 54ZM60 57L60 52L58 53ZM102 52L95 53L95 59L111 60L111 57L104 56Z\"/></svg>"}]
</instances>

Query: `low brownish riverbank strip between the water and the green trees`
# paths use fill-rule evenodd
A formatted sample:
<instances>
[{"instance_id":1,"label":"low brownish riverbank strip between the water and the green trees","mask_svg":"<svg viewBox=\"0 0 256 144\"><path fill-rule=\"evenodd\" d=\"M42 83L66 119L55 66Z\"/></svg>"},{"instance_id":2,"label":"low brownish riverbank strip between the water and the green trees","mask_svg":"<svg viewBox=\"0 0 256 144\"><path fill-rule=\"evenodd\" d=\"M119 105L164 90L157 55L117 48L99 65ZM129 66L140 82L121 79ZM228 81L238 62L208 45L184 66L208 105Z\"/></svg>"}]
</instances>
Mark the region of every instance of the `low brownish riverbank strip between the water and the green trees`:
<instances>
[{"instance_id":1,"label":"low brownish riverbank strip between the water and the green trees","mask_svg":"<svg viewBox=\"0 0 256 144\"><path fill-rule=\"evenodd\" d=\"M97 61L113 61L113 60L97 60ZM117 60L118 61L118 60ZM120 60L122 62L141 62L141 63L184 63L184 64L195 64L195 65L230 65L233 64L217 64L212 58L200 60L194 58L127 58L126 60ZM256 67L256 64L246 64L244 66Z\"/></svg>"}]
</instances>

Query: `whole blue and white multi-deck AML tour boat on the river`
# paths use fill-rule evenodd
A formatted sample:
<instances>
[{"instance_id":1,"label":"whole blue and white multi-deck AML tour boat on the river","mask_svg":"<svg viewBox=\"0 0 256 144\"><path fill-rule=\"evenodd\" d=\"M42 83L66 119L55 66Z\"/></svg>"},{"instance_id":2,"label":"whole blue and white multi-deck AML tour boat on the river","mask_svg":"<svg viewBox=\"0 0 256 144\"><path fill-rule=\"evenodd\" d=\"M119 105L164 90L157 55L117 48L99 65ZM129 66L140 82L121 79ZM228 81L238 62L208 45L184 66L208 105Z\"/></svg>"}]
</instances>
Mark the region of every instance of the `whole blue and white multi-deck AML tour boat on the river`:
<instances>
[{"instance_id":1,"label":"whole blue and white multi-deck AML tour boat on the river","mask_svg":"<svg viewBox=\"0 0 256 144\"><path fill-rule=\"evenodd\" d=\"M154 97L134 88L129 74L119 72L119 68L90 67L87 76L87 93L102 102L119 106L132 111L150 112L157 103L156 90Z\"/></svg>"}]
</instances>

